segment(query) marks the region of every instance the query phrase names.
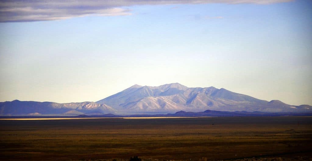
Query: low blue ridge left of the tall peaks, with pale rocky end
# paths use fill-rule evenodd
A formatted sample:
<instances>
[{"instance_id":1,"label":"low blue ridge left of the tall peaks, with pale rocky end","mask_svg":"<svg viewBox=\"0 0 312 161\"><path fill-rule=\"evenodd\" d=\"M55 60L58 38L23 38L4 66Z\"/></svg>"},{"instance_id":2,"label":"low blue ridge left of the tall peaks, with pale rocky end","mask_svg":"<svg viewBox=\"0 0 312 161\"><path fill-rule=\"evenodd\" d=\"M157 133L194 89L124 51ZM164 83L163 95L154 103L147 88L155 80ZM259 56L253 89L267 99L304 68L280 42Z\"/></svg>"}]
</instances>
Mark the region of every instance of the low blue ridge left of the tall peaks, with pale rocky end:
<instances>
[{"instance_id":1,"label":"low blue ridge left of the tall peaks, with pale rocky end","mask_svg":"<svg viewBox=\"0 0 312 161\"><path fill-rule=\"evenodd\" d=\"M0 115L77 115L84 113L114 113L112 107L95 102L55 103L19 101L0 102Z\"/></svg>"}]
</instances>

